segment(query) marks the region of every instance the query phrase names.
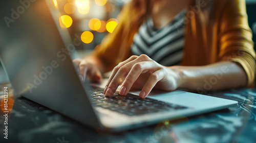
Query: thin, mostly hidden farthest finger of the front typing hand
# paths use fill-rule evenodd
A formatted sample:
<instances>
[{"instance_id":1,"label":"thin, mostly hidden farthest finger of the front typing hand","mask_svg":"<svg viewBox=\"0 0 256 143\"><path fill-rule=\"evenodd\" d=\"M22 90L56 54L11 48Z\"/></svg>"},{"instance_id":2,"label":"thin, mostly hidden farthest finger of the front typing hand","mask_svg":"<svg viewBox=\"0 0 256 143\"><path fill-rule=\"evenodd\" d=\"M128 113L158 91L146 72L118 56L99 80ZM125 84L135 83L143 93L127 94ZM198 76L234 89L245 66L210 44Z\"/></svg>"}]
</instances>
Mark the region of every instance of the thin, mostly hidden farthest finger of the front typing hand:
<instances>
[{"instance_id":1,"label":"thin, mostly hidden farthest finger of the front typing hand","mask_svg":"<svg viewBox=\"0 0 256 143\"><path fill-rule=\"evenodd\" d=\"M112 71L112 73L111 73L111 75L110 75L110 77L109 77L108 82L106 82L106 86L105 86L105 89L104 89L104 92L103 92L104 94L105 94L106 90L108 89L108 86L109 86L110 82L111 82L112 79L115 77L115 75L116 75L117 71L119 70L119 68L122 67L124 64L126 64L126 63L128 63L128 62L130 62L130 61L135 60L136 58L138 58L138 56L131 56L131 57L128 58L127 60L125 60L125 61L119 63L119 64L113 69L113 71Z\"/></svg>"}]
</instances>

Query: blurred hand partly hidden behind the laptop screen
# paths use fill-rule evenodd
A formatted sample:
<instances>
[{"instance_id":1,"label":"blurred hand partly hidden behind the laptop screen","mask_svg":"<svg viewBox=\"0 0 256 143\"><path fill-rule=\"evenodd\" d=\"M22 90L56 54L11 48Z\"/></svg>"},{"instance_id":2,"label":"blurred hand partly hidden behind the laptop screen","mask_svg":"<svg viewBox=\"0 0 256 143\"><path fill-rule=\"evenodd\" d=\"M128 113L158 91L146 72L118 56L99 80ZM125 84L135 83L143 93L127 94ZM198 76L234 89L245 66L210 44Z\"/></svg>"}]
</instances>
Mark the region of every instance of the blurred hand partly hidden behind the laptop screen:
<instances>
[{"instance_id":1,"label":"blurred hand partly hidden behind the laptop screen","mask_svg":"<svg viewBox=\"0 0 256 143\"><path fill-rule=\"evenodd\" d=\"M85 59L74 59L73 63L75 67L78 68L79 77L82 81L86 80L86 76L88 76L90 82L99 83L102 80L100 70L95 64L90 63Z\"/></svg>"}]
</instances>

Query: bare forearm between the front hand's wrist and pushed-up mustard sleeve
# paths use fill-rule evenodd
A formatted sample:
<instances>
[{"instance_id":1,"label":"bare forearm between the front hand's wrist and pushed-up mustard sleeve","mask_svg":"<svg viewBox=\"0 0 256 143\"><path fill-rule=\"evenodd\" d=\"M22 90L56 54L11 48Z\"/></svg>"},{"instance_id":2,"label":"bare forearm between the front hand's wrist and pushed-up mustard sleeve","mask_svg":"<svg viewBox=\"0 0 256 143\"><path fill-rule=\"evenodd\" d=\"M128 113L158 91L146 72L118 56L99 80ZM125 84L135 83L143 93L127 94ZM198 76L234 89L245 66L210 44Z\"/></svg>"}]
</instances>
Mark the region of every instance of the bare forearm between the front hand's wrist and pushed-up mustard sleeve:
<instances>
[{"instance_id":1,"label":"bare forearm between the front hand's wrist and pushed-up mustard sleeve","mask_svg":"<svg viewBox=\"0 0 256 143\"><path fill-rule=\"evenodd\" d=\"M175 66L180 77L181 88L208 91L244 87L247 76L237 63L224 61L206 66Z\"/></svg>"}]
</instances>

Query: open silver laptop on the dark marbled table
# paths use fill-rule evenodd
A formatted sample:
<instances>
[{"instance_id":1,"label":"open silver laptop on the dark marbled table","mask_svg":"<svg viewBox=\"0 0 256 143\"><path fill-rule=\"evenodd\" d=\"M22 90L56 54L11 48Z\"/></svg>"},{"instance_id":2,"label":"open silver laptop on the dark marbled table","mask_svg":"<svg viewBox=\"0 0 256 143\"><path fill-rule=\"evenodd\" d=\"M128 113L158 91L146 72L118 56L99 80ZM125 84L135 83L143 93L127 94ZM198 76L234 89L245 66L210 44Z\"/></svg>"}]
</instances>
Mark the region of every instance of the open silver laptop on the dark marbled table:
<instances>
[{"instance_id":1,"label":"open silver laptop on the dark marbled table","mask_svg":"<svg viewBox=\"0 0 256 143\"><path fill-rule=\"evenodd\" d=\"M1 1L0 58L16 96L23 96L93 129L119 132L237 105L236 101L175 90L114 93L79 79L75 46L52 0ZM137 94L137 95L136 95Z\"/></svg>"}]
</instances>

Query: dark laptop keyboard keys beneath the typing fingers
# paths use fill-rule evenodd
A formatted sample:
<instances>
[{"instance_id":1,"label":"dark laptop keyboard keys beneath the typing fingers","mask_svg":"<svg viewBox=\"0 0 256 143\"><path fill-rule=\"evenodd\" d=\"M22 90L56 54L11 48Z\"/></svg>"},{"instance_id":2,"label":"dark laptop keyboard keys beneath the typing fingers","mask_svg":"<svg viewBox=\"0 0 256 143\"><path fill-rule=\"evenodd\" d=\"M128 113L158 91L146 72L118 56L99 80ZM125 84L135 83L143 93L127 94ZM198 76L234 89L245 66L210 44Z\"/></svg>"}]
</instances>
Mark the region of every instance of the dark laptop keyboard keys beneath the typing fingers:
<instances>
[{"instance_id":1,"label":"dark laptop keyboard keys beneath the typing fingers","mask_svg":"<svg viewBox=\"0 0 256 143\"><path fill-rule=\"evenodd\" d=\"M121 96L118 93L114 93L112 97L105 97L102 89L92 89L92 91L90 91L90 97L94 107L108 108L130 116L159 111L177 111L188 108L149 98L141 99L132 94Z\"/></svg>"}]
</instances>

